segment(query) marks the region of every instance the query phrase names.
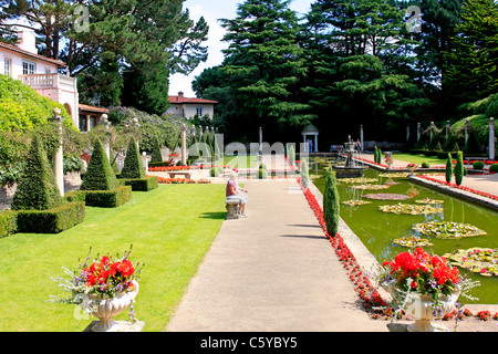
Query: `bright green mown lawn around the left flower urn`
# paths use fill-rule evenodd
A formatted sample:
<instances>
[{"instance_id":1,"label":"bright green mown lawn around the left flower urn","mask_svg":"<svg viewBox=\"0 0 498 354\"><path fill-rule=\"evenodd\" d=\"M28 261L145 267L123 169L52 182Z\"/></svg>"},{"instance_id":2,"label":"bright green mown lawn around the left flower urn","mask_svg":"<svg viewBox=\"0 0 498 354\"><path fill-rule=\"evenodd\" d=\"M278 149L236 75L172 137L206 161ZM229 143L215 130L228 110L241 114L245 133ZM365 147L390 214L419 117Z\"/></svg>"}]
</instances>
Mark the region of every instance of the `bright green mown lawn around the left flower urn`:
<instances>
[{"instance_id":1,"label":"bright green mown lawn around the left flower urn","mask_svg":"<svg viewBox=\"0 0 498 354\"><path fill-rule=\"evenodd\" d=\"M45 302L65 296L51 280L92 256L123 254L144 263L135 314L144 331L163 331L225 219L224 185L167 185L133 192L120 208L86 208L83 223L58 235L0 239L0 331L83 331L79 306ZM117 319L126 320L128 311Z\"/></svg>"}]
</instances>

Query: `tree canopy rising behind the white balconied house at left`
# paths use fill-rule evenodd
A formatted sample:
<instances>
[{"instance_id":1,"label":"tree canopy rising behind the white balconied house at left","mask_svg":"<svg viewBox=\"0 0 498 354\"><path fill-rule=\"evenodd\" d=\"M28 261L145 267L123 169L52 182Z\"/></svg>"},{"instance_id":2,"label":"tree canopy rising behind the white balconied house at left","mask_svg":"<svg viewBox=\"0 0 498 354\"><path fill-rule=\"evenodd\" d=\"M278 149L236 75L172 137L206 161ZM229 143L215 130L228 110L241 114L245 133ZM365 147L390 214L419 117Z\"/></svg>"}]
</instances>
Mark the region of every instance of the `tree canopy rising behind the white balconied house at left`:
<instances>
[{"instance_id":1,"label":"tree canopy rising behind the white balconied house at left","mask_svg":"<svg viewBox=\"0 0 498 354\"><path fill-rule=\"evenodd\" d=\"M124 98L163 114L169 75L189 73L207 59L209 28L204 18L189 18L184 1L2 0L0 34L9 40L15 35L9 21L28 21L41 39L40 54L64 61L79 79L84 103L112 106ZM87 27L76 25L81 21ZM154 83L144 73L154 74ZM139 98L122 97L127 85L139 86Z\"/></svg>"}]
</instances>

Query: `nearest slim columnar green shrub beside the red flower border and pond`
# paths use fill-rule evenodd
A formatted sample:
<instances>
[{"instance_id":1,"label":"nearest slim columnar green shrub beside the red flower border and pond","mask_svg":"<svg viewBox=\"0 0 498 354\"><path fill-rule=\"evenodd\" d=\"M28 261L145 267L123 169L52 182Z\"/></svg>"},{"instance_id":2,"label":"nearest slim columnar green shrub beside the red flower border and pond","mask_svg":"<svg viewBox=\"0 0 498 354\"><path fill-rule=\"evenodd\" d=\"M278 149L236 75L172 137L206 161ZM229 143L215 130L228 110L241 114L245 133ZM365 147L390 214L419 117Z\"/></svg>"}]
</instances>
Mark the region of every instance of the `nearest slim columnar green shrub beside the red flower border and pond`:
<instances>
[{"instance_id":1,"label":"nearest slim columnar green shrub beside the red flower border and pond","mask_svg":"<svg viewBox=\"0 0 498 354\"><path fill-rule=\"evenodd\" d=\"M323 218L326 231L332 237L338 235L340 220L340 198L336 184L335 173L332 168L328 168L325 171L325 189L323 191Z\"/></svg>"}]
</instances>

